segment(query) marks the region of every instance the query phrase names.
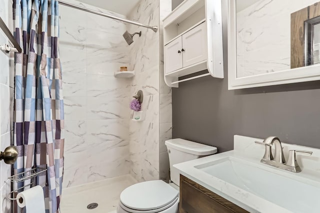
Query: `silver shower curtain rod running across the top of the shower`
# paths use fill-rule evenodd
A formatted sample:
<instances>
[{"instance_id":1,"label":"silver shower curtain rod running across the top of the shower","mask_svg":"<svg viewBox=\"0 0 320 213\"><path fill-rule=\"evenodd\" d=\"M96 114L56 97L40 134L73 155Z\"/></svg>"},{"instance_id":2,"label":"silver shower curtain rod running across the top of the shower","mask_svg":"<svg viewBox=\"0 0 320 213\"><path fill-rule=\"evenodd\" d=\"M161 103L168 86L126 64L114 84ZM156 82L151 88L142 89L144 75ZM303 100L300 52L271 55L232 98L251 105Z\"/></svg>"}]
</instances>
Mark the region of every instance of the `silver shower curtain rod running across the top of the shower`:
<instances>
[{"instance_id":1,"label":"silver shower curtain rod running across the top of the shower","mask_svg":"<svg viewBox=\"0 0 320 213\"><path fill-rule=\"evenodd\" d=\"M112 19L115 19L115 20L119 20L119 21L123 21L123 22L126 22L126 23L134 24L134 25L137 25L137 26L146 27L146 28L152 29L154 32L156 32L158 30L157 26L148 26L148 25L145 25L145 24L142 24L142 23L138 23L138 22L135 22L135 21L127 20L127 19L116 17L116 16L109 15L109 14L105 14L103 12L95 11L95 10L88 9L88 8L85 8L85 7L82 7L82 6L77 6L77 5L72 4L72 3L67 3L65 1L59 0L59 4L64 5L64 6L69 6L69 7L75 8L75 9L83 10L83 11L86 11L86 12L91 12L91 13L94 13L94 14L97 14L97 15L102 15L102 16L105 16L105 17L108 17L108 18L112 18Z\"/></svg>"}]
</instances>

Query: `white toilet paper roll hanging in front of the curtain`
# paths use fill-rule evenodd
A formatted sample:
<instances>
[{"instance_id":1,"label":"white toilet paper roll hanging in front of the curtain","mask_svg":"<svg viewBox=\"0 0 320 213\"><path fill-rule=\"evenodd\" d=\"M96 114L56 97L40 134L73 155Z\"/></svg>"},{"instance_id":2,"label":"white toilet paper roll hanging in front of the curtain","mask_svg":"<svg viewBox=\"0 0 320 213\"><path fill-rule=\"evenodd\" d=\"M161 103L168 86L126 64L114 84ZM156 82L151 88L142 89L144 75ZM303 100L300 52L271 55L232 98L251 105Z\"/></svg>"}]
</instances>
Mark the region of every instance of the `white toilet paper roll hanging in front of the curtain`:
<instances>
[{"instance_id":1,"label":"white toilet paper roll hanging in front of the curtain","mask_svg":"<svg viewBox=\"0 0 320 213\"><path fill-rule=\"evenodd\" d=\"M26 213L45 213L42 187L35 186L20 192L16 198L22 198L22 203L20 203L21 199L18 199L16 203L20 208L25 207Z\"/></svg>"}]
</instances>

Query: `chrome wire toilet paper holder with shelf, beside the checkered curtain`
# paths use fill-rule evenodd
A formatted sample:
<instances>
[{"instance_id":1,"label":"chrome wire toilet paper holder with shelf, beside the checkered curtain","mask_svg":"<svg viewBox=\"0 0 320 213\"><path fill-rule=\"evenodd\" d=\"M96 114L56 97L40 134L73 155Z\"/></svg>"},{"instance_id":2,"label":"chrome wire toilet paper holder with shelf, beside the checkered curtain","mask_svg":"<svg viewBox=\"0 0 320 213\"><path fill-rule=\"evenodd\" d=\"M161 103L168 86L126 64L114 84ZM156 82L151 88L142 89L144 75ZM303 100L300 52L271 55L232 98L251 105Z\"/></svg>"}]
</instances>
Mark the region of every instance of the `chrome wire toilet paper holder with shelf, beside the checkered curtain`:
<instances>
[{"instance_id":1,"label":"chrome wire toilet paper holder with shelf, beside the checkered curtain","mask_svg":"<svg viewBox=\"0 0 320 213\"><path fill-rule=\"evenodd\" d=\"M19 182L24 182L24 181L28 181L29 183L27 185L24 185L16 190L11 191L8 195L7 195L7 199L11 200L11 201L16 201L22 198L14 198L14 193L19 193L20 190L26 188L26 187L34 187L35 183L34 183L34 178L38 175L40 175L41 173L47 171L47 169L43 169L43 168L33 168L29 171L24 171L21 173L18 173L16 175L12 175L10 177L8 177L8 180L11 181L11 183L15 183L16 185L18 185ZM46 187L46 183L41 185L42 188ZM22 190L23 191L23 190ZM12 195L12 196L11 196ZM22 200L19 200L20 203L22 203Z\"/></svg>"}]
</instances>

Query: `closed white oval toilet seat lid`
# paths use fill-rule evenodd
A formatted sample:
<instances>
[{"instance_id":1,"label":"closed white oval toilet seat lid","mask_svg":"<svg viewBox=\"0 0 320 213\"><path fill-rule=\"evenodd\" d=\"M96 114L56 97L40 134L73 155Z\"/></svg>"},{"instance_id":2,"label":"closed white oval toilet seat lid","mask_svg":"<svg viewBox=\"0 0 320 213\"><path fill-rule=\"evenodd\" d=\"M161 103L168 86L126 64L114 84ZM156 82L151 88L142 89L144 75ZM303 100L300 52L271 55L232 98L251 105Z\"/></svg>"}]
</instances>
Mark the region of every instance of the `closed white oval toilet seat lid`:
<instances>
[{"instance_id":1,"label":"closed white oval toilet seat lid","mask_svg":"<svg viewBox=\"0 0 320 213\"><path fill-rule=\"evenodd\" d=\"M178 191L161 180L134 184L120 194L120 202L132 210L148 211L167 206Z\"/></svg>"}]
</instances>

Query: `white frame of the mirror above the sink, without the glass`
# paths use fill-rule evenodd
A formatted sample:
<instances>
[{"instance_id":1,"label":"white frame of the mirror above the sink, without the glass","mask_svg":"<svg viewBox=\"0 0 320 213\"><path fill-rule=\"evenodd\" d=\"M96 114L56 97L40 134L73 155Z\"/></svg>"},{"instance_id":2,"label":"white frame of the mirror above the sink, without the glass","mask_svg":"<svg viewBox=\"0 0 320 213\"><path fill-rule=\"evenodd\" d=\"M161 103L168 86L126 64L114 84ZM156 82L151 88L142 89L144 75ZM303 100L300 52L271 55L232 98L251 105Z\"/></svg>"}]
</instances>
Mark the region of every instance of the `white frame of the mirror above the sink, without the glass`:
<instances>
[{"instance_id":1,"label":"white frame of the mirror above the sink, without the glass","mask_svg":"<svg viewBox=\"0 0 320 213\"><path fill-rule=\"evenodd\" d=\"M242 89L320 80L320 65L298 67L247 77L236 77L236 0L228 1L228 89Z\"/></svg>"}]
</instances>

